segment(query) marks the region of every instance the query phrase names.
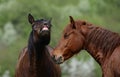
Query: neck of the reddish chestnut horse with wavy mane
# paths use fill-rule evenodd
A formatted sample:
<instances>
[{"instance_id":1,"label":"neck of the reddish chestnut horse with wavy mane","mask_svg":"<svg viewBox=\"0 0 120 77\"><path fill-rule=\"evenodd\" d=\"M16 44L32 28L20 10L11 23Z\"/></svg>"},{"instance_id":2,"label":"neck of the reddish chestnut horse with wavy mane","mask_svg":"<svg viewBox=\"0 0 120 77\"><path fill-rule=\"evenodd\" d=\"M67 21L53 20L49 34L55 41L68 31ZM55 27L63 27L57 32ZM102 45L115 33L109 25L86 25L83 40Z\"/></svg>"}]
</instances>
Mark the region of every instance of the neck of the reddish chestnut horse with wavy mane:
<instances>
[{"instance_id":1,"label":"neck of the reddish chestnut horse with wavy mane","mask_svg":"<svg viewBox=\"0 0 120 77\"><path fill-rule=\"evenodd\" d=\"M101 65L120 45L120 36L111 31L93 27L86 35L84 49Z\"/></svg>"}]
</instances>

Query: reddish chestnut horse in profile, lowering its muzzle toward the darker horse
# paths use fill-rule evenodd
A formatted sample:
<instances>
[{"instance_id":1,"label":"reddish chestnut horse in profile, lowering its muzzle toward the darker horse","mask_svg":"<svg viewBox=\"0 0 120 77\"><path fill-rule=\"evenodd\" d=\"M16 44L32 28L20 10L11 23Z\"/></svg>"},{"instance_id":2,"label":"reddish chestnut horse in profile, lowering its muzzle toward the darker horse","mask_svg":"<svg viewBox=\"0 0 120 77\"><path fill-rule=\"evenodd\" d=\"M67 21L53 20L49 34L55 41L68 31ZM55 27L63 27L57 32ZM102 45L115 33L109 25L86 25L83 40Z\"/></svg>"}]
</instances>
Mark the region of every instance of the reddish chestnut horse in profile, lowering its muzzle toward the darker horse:
<instances>
[{"instance_id":1,"label":"reddish chestnut horse in profile, lowering its muzzle toward the darker horse","mask_svg":"<svg viewBox=\"0 0 120 77\"><path fill-rule=\"evenodd\" d=\"M52 58L61 64L80 50L86 50L100 64L102 77L120 77L120 35L70 16Z\"/></svg>"}]
</instances>

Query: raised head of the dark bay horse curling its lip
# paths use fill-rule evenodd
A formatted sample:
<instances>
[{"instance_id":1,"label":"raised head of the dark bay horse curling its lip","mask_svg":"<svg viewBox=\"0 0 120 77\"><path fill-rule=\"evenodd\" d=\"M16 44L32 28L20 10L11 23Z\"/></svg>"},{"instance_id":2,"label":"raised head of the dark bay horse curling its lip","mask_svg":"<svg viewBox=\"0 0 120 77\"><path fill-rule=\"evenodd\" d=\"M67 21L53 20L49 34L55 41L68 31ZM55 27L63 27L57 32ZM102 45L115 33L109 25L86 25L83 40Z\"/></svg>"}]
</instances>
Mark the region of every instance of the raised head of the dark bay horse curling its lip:
<instances>
[{"instance_id":1,"label":"raised head of the dark bay horse curling its lip","mask_svg":"<svg viewBox=\"0 0 120 77\"><path fill-rule=\"evenodd\" d=\"M40 42L44 45L49 44L50 42L50 31L51 31L51 19L40 19L34 20L34 17L29 14L28 21L32 25L32 31L34 34L34 40Z\"/></svg>"}]
</instances>

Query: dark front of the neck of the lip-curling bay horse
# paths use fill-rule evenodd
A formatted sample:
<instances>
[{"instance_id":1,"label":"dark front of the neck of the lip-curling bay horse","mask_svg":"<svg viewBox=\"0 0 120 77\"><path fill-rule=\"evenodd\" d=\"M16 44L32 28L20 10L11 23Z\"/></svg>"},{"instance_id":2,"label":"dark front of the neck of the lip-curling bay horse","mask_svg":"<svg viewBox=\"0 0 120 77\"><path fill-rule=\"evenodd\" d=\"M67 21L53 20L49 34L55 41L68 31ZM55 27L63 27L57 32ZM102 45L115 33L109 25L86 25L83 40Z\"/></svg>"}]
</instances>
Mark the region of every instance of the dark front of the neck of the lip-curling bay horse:
<instances>
[{"instance_id":1,"label":"dark front of the neck of the lip-curling bay horse","mask_svg":"<svg viewBox=\"0 0 120 77\"><path fill-rule=\"evenodd\" d=\"M47 52L46 46L40 43L41 40L37 41L34 39L34 34L31 32L28 52L30 59L30 69L35 73L35 77L38 77L43 71L45 63L49 61L49 53ZM42 76L42 75L40 75Z\"/></svg>"}]
</instances>

